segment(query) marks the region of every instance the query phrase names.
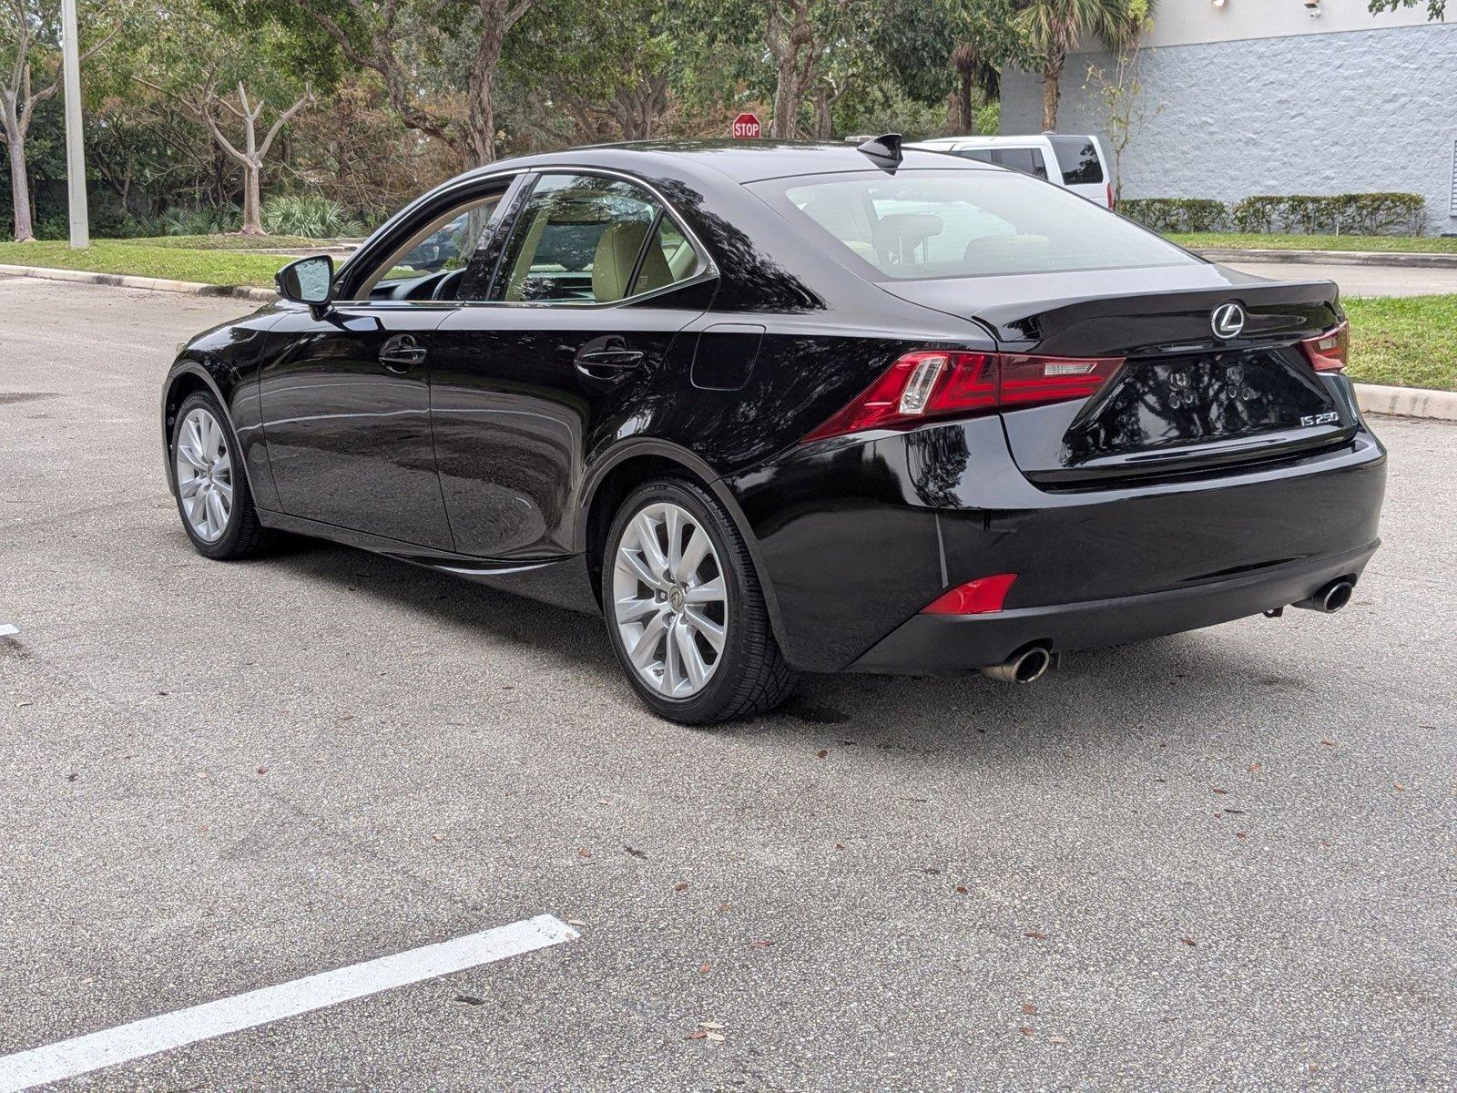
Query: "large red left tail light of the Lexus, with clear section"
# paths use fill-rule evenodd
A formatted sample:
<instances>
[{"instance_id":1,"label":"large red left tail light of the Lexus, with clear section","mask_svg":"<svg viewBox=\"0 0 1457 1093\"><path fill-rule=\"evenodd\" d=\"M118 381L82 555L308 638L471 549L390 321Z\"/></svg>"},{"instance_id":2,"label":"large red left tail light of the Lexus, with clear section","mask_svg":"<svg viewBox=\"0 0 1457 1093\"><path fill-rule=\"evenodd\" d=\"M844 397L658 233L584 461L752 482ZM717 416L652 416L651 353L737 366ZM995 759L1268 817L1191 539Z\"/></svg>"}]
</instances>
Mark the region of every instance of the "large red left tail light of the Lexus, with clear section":
<instances>
[{"instance_id":1,"label":"large red left tail light of the Lexus, with clear section","mask_svg":"<svg viewBox=\"0 0 1457 1093\"><path fill-rule=\"evenodd\" d=\"M908 353L804 440L909 428L930 418L1087 398L1122 357L1030 357L1008 353Z\"/></svg>"}]
</instances>

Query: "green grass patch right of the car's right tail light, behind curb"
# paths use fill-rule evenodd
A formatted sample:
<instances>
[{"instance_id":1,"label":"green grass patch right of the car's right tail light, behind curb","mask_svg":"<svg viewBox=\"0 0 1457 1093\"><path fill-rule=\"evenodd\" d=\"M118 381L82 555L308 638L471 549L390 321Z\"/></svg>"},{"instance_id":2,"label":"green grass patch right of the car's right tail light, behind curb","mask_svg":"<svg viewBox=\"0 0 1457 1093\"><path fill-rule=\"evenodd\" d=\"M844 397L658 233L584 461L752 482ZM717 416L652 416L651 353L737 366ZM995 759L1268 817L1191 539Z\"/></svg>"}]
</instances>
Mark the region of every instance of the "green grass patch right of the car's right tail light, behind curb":
<instances>
[{"instance_id":1,"label":"green grass patch right of the car's right tail light, behind curb","mask_svg":"<svg viewBox=\"0 0 1457 1093\"><path fill-rule=\"evenodd\" d=\"M1457 294L1342 300L1351 318L1351 364L1362 383L1457 391Z\"/></svg>"}]
</instances>

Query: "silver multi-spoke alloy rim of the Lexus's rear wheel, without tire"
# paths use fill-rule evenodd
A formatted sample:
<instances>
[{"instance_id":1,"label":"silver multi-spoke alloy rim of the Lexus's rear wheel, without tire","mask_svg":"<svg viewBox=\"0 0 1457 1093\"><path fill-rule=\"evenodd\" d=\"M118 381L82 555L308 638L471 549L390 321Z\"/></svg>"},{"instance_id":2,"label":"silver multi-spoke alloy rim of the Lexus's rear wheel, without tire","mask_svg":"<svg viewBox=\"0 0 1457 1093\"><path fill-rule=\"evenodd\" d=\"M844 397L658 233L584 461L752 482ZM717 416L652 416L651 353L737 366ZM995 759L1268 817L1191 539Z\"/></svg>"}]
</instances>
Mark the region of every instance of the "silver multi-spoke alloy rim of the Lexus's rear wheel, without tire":
<instances>
[{"instance_id":1,"label":"silver multi-spoke alloy rim of the Lexus's rear wheel, without tire","mask_svg":"<svg viewBox=\"0 0 1457 1093\"><path fill-rule=\"evenodd\" d=\"M702 691L724 654L728 589L708 530L682 506L645 506L622 530L612 609L638 676L667 698Z\"/></svg>"}]
</instances>

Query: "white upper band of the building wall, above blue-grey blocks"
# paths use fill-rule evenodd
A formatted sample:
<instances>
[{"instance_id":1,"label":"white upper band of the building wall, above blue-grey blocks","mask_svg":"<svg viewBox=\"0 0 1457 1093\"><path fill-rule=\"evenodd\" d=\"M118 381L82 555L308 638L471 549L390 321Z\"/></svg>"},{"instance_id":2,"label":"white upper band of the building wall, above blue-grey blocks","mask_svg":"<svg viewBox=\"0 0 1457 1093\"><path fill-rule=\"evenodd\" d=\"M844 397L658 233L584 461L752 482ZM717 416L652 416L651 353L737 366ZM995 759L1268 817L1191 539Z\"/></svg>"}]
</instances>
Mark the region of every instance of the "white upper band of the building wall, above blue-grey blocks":
<instances>
[{"instance_id":1,"label":"white upper band of the building wall, above blue-grey blocks","mask_svg":"<svg viewBox=\"0 0 1457 1093\"><path fill-rule=\"evenodd\" d=\"M1453 12L1457 16L1457 10ZM1160 0L1148 45L1231 42L1241 38L1284 38L1298 34L1338 34L1383 26L1421 26L1426 0L1419 7L1371 15L1367 0L1321 0L1320 17L1311 19L1303 0ZM1088 42L1083 51L1097 50Z\"/></svg>"}]
</instances>

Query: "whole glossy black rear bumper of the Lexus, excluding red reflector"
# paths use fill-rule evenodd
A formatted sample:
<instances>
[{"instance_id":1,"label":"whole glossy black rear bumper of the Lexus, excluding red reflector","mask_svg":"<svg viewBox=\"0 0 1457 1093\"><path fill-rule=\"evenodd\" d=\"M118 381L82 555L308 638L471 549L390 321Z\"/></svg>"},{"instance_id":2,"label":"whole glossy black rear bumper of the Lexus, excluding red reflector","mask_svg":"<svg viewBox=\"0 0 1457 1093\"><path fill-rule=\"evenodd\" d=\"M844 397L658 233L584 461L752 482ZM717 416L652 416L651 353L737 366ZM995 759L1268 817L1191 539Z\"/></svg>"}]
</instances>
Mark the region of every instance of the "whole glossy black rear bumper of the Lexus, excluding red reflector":
<instances>
[{"instance_id":1,"label":"whole glossy black rear bumper of the Lexus, excluding red reflector","mask_svg":"<svg viewBox=\"0 0 1457 1093\"><path fill-rule=\"evenodd\" d=\"M1033 641L1065 651L1225 622L1359 574L1386 452L1362 427L1279 463L1050 491L985 417L804 444L723 484L794 667L950 672ZM997 615L919 615L997 573L1018 574Z\"/></svg>"}]
</instances>

